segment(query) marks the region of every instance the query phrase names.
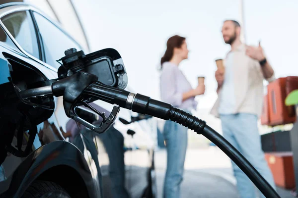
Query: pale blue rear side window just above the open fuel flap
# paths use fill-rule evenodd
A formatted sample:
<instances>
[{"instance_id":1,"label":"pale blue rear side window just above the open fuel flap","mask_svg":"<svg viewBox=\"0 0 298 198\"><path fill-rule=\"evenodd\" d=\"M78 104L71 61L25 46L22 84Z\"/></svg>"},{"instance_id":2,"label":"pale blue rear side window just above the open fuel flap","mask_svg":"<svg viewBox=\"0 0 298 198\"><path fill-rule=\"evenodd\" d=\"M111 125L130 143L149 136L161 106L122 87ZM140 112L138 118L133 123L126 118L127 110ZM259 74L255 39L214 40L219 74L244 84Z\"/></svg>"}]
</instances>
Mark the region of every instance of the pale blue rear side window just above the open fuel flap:
<instances>
[{"instance_id":1,"label":"pale blue rear side window just above the open fuel flap","mask_svg":"<svg viewBox=\"0 0 298 198\"><path fill-rule=\"evenodd\" d=\"M61 29L50 22L37 12L34 12L40 35L42 37L46 60L49 65L59 68L60 64L56 61L65 56L64 51L70 48L81 50L79 45L74 42Z\"/></svg>"}]
</instances>

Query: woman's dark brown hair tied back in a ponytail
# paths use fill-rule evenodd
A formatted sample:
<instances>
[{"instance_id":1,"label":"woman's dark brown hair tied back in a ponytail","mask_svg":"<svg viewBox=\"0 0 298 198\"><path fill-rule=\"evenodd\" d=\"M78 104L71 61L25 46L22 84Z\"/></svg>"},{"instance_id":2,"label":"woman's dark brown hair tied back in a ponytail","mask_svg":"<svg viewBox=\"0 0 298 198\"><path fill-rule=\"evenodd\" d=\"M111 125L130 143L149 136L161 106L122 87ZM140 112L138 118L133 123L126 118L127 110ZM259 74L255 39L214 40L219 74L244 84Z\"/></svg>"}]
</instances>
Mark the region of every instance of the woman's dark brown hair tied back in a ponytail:
<instances>
[{"instance_id":1,"label":"woman's dark brown hair tied back in a ponytail","mask_svg":"<svg viewBox=\"0 0 298 198\"><path fill-rule=\"evenodd\" d=\"M172 36L168 39L168 41L166 42L165 53L160 60L161 67L164 62L170 61L172 59L174 48L180 48L184 41L185 41L185 38L180 37L178 35Z\"/></svg>"}]
</instances>

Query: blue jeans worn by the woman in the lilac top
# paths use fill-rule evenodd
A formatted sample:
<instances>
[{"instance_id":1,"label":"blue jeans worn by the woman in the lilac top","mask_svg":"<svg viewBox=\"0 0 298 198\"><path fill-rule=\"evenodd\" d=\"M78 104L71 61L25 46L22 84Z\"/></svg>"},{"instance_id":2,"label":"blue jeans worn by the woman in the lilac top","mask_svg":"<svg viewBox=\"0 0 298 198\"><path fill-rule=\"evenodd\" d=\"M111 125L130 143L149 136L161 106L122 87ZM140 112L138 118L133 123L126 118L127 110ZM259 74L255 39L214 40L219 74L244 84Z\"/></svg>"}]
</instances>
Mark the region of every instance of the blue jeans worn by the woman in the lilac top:
<instances>
[{"instance_id":1,"label":"blue jeans worn by the woman in the lilac top","mask_svg":"<svg viewBox=\"0 0 298 198\"><path fill-rule=\"evenodd\" d=\"M163 187L164 198L180 198L187 148L187 128L167 120L163 136L167 149L167 169Z\"/></svg>"}]
</instances>

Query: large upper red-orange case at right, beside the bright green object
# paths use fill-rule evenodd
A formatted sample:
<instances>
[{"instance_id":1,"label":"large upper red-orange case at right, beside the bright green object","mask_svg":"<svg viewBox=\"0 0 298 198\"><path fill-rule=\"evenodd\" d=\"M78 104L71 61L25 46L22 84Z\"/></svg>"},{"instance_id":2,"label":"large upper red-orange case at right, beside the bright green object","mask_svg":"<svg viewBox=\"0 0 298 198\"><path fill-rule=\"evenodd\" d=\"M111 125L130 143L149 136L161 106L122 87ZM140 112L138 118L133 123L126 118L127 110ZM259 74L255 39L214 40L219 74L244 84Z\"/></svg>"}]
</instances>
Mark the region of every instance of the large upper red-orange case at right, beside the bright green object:
<instances>
[{"instance_id":1,"label":"large upper red-orange case at right, beside the bright green object","mask_svg":"<svg viewBox=\"0 0 298 198\"><path fill-rule=\"evenodd\" d=\"M287 93L298 89L298 77L278 78L268 85L268 107L270 122L268 125L282 125L296 122L294 106L286 106Z\"/></svg>"}]
</instances>

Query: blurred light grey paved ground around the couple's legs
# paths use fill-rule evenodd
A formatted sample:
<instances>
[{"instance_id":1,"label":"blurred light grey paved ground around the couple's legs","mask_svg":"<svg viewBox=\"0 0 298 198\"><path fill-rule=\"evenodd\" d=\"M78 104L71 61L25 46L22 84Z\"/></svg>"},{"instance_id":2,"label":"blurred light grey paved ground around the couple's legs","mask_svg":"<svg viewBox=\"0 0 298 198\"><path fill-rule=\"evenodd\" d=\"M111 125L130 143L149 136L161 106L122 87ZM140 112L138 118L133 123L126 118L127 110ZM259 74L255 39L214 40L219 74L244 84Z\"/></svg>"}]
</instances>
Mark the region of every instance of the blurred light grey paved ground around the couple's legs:
<instances>
[{"instance_id":1,"label":"blurred light grey paved ground around the couple's legs","mask_svg":"<svg viewBox=\"0 0 298 198\"><path fill-rule=\"evenodd\" d=\"M162 198L165 166L166 151L156 151L158 198ZM239 198L235 184L230 160L219 148L188 149L181 198ZM278 193L282 198L294 198L287 190L278 189Z\"/></svg>"}]
</instances>

